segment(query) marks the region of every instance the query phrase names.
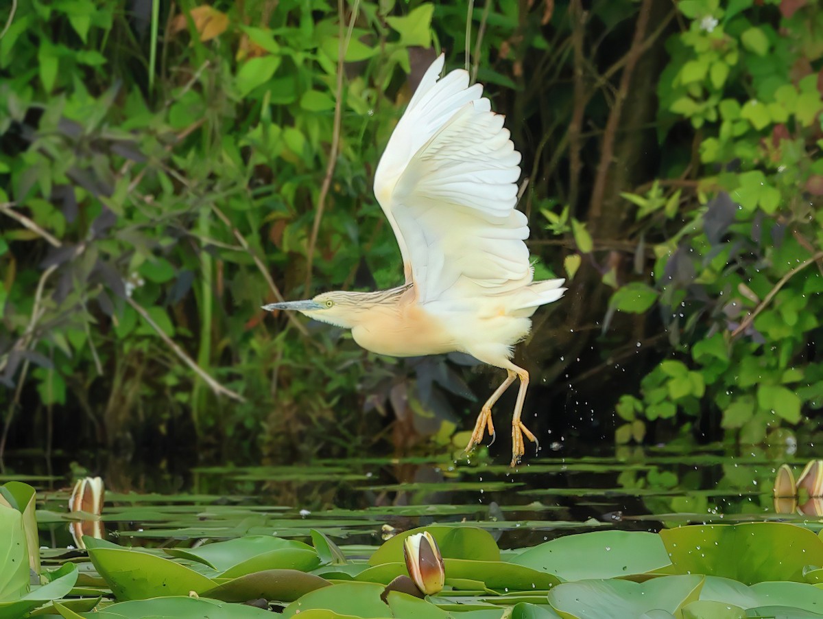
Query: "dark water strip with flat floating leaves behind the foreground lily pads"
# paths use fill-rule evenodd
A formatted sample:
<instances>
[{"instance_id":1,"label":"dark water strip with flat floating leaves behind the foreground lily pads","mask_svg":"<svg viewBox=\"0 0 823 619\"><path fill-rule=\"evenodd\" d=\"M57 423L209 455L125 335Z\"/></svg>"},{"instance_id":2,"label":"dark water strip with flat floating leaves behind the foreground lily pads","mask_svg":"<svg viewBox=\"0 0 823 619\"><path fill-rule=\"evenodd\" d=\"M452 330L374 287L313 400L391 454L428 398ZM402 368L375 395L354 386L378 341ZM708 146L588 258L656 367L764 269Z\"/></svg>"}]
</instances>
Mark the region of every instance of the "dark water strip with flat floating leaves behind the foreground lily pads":
<instances>
[{"instance_id":1,"label":"dark water strip with flat floating leaves behind the foreground lily pads","mask_svg":"<svg viewBox=\"0 0 823 619\"><path fill-rule=\"evenodd\" d=\"M356 458L311 465L212 466L175 471L169 463L105 468L103 519L122 544L177 545L202 538L277 535L305 538L317 528L343 545L379 545L393 533L467 521L501 548L519 548L595 528L749 520L815 520L775 514L774 474L796 474L814 448L701 450L611 448L530 457L518 468L475 458ZM0 482L20 479L40 491L44 545L72 544L67 530L68 463L41 472L37 454L16 454ZM63 467L61 470L60 467ZM13 468L14 472L9 472ZM75 472L79 469L74 467Z\"/></svg>"}]
</instances>

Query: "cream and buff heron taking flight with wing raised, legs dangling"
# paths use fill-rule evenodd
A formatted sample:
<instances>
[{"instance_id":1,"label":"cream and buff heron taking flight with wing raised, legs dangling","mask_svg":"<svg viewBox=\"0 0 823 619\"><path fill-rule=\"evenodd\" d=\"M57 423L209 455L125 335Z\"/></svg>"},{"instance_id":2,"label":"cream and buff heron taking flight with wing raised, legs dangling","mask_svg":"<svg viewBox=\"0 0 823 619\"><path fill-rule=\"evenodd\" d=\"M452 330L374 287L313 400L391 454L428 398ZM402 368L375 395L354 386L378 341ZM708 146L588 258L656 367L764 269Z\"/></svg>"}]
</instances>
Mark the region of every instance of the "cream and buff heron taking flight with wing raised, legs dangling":
<instances>
[{"instance_id":1,"label":"cream and buff heron taking flight with wing raised, legs dangling","mask_svg":"<svg viewBox=\"0 0 823 619\"><path fill-rule=\"evenodd\" d=\"M492 440L491 407L515 379L512 461L523 435L537 442L521 413L528 372L512 363L540 305L563 296L562 279L533 281L528 220L516 210L520 153L504 117L491 111L483 86L468 73L442 79L441 55L425 72L374 174L374 194L403 259L406 282L378 292L325 292L311 300L272 303L350 328L355 342L388 356L460 351L506 370L481 408L466 451Z\"/></svg>"}]
</instances>

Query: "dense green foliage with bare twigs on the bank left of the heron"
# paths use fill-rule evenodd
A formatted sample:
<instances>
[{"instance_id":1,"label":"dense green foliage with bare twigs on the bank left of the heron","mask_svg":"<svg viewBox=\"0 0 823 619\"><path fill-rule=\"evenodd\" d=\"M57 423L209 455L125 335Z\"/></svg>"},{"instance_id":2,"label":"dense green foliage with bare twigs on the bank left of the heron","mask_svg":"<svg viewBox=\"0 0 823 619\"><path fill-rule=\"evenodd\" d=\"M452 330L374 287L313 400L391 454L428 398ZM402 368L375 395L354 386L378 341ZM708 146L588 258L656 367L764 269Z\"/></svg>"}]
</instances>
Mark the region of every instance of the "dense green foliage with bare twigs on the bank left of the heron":
<instances>
[{"instance_id":1,"label":"dense green foliage with bare twigs on the bank left of the heron","mask_svg":"<svg viewBox=\"0 0 823 619\"><path fill-rule=\"evenodd\" d=\"M272 12L262 1L184 2L157 15L158 4L0 9L0 378L10 414L54 409L75 440L108 444L142 424L152 434L183 426L204 450L251 444L279 461L373 440L365 419L379 424L384 385L403 380L436 422L419 434L433 434L450 414L437 384L470 395L461 379L440 372L418 392L414 367L259 308L402 277L388 268L397 245L370 175L408 98L409 48L431 44L434 6L365 2L338 15L334 3ZM343 66L338 91L343 48L347 63L365 64ZM192 361L241 401L221 398ZM373 388L357 393L365 377ZM304 440L310 431L324 439Z\"/></svg>"}]
</instances>

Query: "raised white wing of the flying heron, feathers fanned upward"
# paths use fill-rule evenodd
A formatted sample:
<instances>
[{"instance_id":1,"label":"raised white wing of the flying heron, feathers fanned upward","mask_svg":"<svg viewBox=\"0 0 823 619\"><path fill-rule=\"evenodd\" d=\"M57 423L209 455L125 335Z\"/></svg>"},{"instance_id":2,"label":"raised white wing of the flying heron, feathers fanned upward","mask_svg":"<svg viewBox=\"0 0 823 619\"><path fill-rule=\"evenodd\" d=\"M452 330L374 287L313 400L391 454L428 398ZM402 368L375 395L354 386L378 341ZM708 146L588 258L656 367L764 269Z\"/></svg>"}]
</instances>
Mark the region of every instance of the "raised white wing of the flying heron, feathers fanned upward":
<instances>
[{"instance_id":1,"label":"raised white wing of the flying heron, feathers fanned upward","mask_svg":"<svg viewBox=\"0 0 823 619\"><path fill-rule=\"evenodd\" d=\"M377 168L374 193L418 301L531 282L526 216L514 209L520 154L468 73L425 72Z\"/></svg>"}]
</instances>

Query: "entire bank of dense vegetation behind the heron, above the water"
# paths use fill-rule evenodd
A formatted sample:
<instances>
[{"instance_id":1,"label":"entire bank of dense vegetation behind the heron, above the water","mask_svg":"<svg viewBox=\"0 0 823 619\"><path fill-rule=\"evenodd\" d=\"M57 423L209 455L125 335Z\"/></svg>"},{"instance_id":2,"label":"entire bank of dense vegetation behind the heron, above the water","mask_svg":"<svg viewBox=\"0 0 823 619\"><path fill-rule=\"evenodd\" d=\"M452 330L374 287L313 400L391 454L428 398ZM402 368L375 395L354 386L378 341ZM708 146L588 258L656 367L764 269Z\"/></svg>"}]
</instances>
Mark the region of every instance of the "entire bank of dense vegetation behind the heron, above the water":
<instances>
[{"instance_id":1,"label":"entire bank of dense vegetation behind the heron, above the water","mask_svg":"<svg viewBox=\"0 0 823 619\"><path fill-rule=\"evenodd\" d=\"M570 279L515 360L544 448L814 440L817 2L31 0L0 25L0 449L464 444L499 371L259 309L401 281L371 184L440 49L507 116L538 275Z\"/></svg>"}]
</instances>

